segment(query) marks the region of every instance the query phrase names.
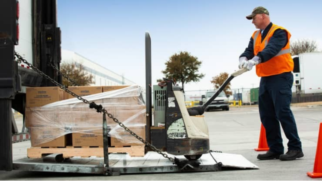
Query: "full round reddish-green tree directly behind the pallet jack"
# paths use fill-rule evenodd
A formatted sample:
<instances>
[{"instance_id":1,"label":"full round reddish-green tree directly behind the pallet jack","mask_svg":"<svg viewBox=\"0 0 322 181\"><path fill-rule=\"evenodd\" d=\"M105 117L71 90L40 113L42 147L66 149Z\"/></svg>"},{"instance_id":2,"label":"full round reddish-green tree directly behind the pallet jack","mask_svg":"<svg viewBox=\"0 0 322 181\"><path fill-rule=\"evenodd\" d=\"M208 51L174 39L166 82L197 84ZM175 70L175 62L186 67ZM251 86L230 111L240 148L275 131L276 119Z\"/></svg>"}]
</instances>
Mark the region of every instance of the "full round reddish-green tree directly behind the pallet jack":
<instances>
[{"instance_id":1,"label":"full round reddish-green tree directly behind the pallet jack","mask_svg":"<svg viewBox=\"0 0 322 181\"><path fill-rule=\"evenodd\" d=\"M204 77L203 73L198 74L201 61L186 51L180 51L179 54L173 54L164 64L166 65L166 68L161 72L164 74L165 78L175 79L176 81L181 82L182 88L184 87L184 83L190 81L196 82Z\"/></svg>"}]
</instances>

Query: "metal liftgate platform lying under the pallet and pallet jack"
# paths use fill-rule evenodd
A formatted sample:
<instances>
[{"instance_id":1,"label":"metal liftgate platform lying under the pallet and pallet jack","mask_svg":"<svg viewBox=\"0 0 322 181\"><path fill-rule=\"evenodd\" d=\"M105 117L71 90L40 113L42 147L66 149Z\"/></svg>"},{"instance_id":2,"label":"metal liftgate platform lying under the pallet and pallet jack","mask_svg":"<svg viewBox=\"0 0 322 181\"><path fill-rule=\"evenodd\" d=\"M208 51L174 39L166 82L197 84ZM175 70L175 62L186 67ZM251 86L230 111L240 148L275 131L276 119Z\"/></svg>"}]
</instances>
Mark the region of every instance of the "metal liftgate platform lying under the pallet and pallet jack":
<instances>
[{"instance_id":1,"label":"metal liftgate platform lying under the pallet and pallet jack","mask_svg":"<svg viewBox=\"0 0 322 181\"><path fill-rule=\"evenodd\" d=\"M212 158L216 160L214 160ZM183 171L219 171L222 167L251 168L258 166L248 161L240 154L211 152L203 154L197 161L199 167L195 169L180 169L171 161L156 152L147 152L144 157L130 157L128 154L110 153L108 155L109 169L114 175L124 173L152 173L152 172L183 172ZM14 160L13 169L29 171L74 172L74 173L104 173L102 157L72 157L63 162L56 162L55 154L43 158L21 158ZM184 156L176 156L186 159Z\"/></svg>"}]
</instances>

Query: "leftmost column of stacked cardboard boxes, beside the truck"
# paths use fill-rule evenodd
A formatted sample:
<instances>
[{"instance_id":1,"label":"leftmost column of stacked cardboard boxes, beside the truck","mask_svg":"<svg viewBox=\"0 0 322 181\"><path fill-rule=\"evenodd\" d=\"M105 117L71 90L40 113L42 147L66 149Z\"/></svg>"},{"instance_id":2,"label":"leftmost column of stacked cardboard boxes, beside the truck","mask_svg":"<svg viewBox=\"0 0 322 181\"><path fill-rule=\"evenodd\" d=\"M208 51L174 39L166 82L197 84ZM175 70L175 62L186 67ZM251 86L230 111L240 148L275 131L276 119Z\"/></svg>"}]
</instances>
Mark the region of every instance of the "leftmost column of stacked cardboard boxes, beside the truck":
<instances>
[{"instance_id":1,"label":"leftmost column of stacked cardboard boxes, beside the truck","mask_svg":"<svg viewBox=\"0 0 322 181\"><path fill-rule=\"evenodd\" d=\"M66 146L66 135L60 131L59 126L50 125L59 124L59 112L39 108L63 99L64 91L59 87L26 88L25 126L30 131L31 146ZM51 121L47 122L48 119Z\"/></svg>"}]
</instances>

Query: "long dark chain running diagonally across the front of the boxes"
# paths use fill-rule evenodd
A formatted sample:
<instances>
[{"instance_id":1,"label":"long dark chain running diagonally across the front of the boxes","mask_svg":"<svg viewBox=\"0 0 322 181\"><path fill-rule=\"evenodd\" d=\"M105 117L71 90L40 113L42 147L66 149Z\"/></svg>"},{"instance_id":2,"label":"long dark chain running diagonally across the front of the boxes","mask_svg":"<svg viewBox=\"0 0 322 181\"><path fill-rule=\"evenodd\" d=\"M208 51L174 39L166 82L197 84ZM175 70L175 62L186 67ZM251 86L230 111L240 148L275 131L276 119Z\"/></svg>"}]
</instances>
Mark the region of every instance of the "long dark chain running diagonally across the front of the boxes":
<instances>
[{"instance_id":1,"label":"long dark chain running diagonally across the front of the boxes","mask_svg":"<svg viewBox=\"0 0 322 181\"><path fill-rule=\"evenodd\" d=\"M120 122L117 118L115 118L111 113L108 113L107 110L105 108L103 108L101 105L97 105L95 102L89 102L88 100L82 98L81 96L75 94L74 92L70 91L68 88L66 88L65 86L61 85L60 83L56 82L54 79L50 78L48 75L46 75L45 73L43 73L42 71L40 71L37 67L33 66L31 63L29 63L27 60L23 59L17 52L14 52L15 56L18 58L19 61L24 62L25 64L27 64L29 67L31 67L34 71L36 71L37 73L39 73L41 76L47 78L48 80L50 80L52 83L54 83L55 85L59 86L61 89L65 90L66 92L68 92L69 94L71 94L72 96L78 98L79 100L83 101L84 103L89 104L90 108L95 108L97 110L97 112L103 112L106 113L107 116L109 118L112 118L114 122L118 123L119 126L123 127L127 132L129 132L130 134L132 134L134 137L136 137L138 140L140 140L141 142L143 142L145 145L147 145L148 147L150 147L153 151L161 154L163 157L169 159L171 162L176 163L177 161L175 161L174 158L169 157L166 153L163 153L160 149L157 149L155 146L153 146L152 144L150 144L149 142L147 142L146 140L144 140L143 138L141 138L140 136L138 136L135 132L131 131L128 127L126 127L122 122Z\"/></svg>"}]
</instances>

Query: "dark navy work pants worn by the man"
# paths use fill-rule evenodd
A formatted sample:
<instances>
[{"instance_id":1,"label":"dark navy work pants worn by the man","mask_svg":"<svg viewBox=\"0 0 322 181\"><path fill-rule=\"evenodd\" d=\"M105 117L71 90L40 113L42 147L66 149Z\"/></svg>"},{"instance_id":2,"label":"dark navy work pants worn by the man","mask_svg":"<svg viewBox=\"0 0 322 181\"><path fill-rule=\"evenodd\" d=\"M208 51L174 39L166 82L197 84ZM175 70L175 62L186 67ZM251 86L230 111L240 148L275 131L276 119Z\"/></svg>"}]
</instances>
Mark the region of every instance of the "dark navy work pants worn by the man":
<instances>
[{"instance_id":1,"label":"dark navy work pants worn by the man","mask_svg":"<svg viewBox=\"0 0 322 181\"><path fill-rule=\"evenodd\" d=\"M266 130L269 150L276 153L284 152L279 122L288 139L288 150L302 149L295 119L290 110L292 84L293 74L291 72L260 78L258 92L260 120Z\"/></svg>"}]
</instances>

